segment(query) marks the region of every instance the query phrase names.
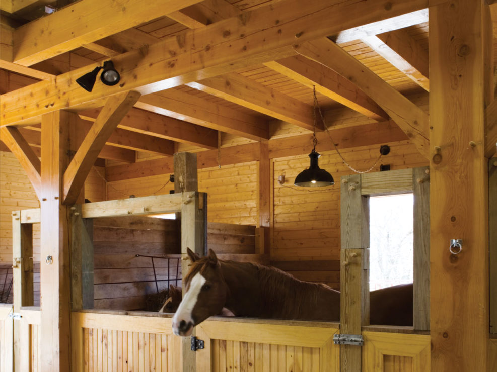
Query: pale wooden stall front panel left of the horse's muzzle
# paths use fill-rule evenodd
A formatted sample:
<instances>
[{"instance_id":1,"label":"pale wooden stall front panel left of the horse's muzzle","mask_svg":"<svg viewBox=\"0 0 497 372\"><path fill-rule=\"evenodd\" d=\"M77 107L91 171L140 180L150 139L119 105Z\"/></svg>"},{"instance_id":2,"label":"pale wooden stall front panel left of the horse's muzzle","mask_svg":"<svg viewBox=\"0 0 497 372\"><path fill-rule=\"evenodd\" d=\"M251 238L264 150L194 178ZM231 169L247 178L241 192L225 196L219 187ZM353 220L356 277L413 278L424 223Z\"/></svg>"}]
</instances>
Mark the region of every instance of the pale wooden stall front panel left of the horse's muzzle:
<instances>
[{"instance_id":1,"label":"pale wooden stall front panel left of the horse's muzzle","mask_svg":"<svg viewBox=\"0 0 497 372\"><path fill-rule=\"evenodd\" d=\"M182 370L171 318L93 311L73 312L71 321L74 371Z\"/></svg>"}]
</instances>

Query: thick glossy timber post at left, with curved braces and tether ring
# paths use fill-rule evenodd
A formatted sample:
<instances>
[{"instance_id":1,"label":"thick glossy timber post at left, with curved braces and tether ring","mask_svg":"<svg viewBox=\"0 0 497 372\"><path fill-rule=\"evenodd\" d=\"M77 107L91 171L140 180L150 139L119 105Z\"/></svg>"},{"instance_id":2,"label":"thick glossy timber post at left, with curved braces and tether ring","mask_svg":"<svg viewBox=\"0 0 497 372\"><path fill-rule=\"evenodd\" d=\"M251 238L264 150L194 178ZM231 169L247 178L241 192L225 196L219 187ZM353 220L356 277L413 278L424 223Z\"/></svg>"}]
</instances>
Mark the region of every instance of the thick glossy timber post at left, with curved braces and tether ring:
<instances>
[{"instance_id":1,"label":"thick glossy timber post at left, with curved braces and tether ring","mask_svg":"<svg viewBox=\"0 0 497 372\"><path fill-rule=\"evenodd\" d=\"M69 118L64 111L41 119L41 324L40 370L68 371L70 361L70 269L68 207L61 204L69 163Z\"/></svg>"}]
</instances>

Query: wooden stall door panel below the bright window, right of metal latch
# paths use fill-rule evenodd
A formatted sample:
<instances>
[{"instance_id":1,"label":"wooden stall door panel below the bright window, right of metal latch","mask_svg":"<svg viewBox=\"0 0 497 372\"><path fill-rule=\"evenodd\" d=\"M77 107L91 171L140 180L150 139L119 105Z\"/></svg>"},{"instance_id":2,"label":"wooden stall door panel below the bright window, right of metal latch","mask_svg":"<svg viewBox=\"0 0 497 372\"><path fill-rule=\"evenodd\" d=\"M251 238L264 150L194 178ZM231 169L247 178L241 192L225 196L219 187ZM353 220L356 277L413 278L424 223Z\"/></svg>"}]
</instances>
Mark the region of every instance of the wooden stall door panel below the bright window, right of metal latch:
<instances>
[{"instance_id":1,"label":"wooden stall door panel below the bright window, right of metal latch","mask_svg":"<svg viewBox=\"0 0 497 372\"><path fill-rule=\"evenodd\" d=\"M362 372L430 371L430 336L363 332Z\"/></svg>"}]
</instances>

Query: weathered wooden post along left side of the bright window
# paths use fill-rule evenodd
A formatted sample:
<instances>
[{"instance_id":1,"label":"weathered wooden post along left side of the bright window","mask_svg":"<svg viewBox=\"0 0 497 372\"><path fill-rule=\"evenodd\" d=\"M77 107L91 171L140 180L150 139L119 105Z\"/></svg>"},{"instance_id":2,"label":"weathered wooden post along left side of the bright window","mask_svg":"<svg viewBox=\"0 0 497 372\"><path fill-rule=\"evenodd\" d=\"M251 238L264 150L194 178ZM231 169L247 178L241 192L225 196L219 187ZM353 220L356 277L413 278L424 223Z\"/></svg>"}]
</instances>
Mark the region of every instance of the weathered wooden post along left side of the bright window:
<instances>
[{"instance_id":1,"label":"weathered wooden post along left side of the bright window","mask_svg":"<svg viewBox=\"0 0 497 372\"><path fill-rule=\"evenodd\" d=\"M361 175L341 177L340 333L361 334L369 324L369 204ZM340 370L361 372L361 347L340 346Z\"/></svg>"}]
</instances>

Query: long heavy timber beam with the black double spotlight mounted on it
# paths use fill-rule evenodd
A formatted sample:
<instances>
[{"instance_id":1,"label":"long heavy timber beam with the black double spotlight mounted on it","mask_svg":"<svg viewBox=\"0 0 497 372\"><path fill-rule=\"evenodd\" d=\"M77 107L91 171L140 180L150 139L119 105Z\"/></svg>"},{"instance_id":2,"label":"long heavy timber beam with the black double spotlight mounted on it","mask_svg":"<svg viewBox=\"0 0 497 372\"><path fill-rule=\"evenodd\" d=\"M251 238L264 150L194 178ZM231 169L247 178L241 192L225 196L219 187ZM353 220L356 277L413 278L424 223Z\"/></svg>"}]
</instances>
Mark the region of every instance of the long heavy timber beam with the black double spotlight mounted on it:
<instances>
[{"instance_id":1,"label":"long heavy timber beam with the black double spotlight mounted on it","mask_svg":"<svg viewBox=\"0 0 497 372\"><path fill-rule=\"evenodd\" d=\"M344 28L423 9L426 0L391 0L388 4L386 9L384 0L359 3L353 0L339 3L335 0L304 3L301 0L282 0L245 12L243 17L187 30L146 49L131 50L114 57L114 65L122 72L121 82L114 86L97 83L92 92L87 92L75 83L78 77L99 65L95 63L57 76L56 84L40 81L4 94L1 97L0 125L18 124L30 117L82 105L123 90L150 94L249 65L289 57L295 55L291 45L296 41L314 40ZM140 6L144 8L142 3ZM285 22L280 23L280 20Z\"/></svg>"}]
</instances>

